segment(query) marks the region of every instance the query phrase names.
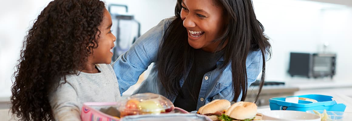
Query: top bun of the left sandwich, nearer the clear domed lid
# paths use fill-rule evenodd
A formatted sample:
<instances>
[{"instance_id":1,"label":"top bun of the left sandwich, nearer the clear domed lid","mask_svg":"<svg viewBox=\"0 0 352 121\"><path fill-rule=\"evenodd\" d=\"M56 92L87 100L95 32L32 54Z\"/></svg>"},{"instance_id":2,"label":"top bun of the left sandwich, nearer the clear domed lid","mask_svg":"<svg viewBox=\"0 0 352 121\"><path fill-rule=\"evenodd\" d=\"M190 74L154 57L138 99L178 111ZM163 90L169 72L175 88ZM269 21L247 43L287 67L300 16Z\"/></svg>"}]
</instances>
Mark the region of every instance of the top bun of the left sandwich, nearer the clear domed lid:
<instances>
[{"instance_id":1,"label":"top bun of the left sandwich, nearer the clear domed lid","mask_svg":"<svg viewBox=\"0 0 352 121\"><path fill-rule=\"evenodd\" d=\"M213 100L208 104L200 107L198 110L198 113L200 114L215 113L217 111L226 110L230 106L231 106L231 103L228 100Z\"/></svg>"}]
</instances>

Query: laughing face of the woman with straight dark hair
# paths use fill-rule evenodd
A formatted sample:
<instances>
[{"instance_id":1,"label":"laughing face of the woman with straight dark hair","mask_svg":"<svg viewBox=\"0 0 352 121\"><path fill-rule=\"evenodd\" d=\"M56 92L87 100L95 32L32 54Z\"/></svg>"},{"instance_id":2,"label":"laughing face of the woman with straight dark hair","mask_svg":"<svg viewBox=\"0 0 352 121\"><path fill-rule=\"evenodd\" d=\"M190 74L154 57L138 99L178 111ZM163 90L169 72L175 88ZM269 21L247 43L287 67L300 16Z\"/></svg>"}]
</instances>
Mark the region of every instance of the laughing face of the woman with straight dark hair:
<instances>
[{"instance_id":1,"label":"laughing face of the woman with straight dark hair","mask_svg":"<svg viewBox=\"0 0 352 121\"><path fill-rule=\"evenodd\" d=\"M213 42L224 33L223 9L213 0L183 0L181 19L188 32L188 43L195 49L215 51L220 41Z\"/></svg>"}]
</instances>

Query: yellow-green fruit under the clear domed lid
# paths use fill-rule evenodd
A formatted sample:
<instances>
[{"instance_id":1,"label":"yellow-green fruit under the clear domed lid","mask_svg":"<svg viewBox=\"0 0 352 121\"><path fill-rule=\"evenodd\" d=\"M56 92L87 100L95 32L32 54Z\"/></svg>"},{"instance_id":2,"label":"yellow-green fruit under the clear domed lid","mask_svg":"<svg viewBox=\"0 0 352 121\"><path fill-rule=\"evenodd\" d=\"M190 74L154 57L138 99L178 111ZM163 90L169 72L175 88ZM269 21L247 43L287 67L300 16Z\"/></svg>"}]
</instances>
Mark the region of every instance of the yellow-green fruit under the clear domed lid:
<instances>
[{"instance_id":1,"label":"yellow-green fruit under the clear domed lid","mask_svg":"<svg viewBox=\"0 0 352 121\"><path fill-rule=\"evenodd\" d=\"M141 101L138 103L137 107L140 110L140 112L147 112L151 114L158 114L161 112L165 112L165 110L163 109L163 106L159 102L153 101L153 100Z\"/></svg>"}]
</instances>

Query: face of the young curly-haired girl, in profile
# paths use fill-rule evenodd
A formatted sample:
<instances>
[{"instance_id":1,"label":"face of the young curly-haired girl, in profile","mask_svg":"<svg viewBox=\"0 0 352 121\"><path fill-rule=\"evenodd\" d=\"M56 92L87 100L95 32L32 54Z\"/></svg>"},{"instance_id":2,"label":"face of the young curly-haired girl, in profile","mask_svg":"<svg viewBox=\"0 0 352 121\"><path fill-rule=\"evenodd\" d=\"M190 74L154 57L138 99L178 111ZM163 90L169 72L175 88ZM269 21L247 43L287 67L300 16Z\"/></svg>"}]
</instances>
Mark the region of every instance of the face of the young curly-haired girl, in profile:
<instances>
[{"instance_id":1,"label":"face of the young curly-haired girl, in profile","mask_svg":"<svg viewBox=\"0 0 352 121\"><path fill-rule=\"evenodd\" d=\"M111 58L113 55L112 48L114 47L114 41L116 40L116 37L111 33L111 26L111 15L107 9L105 9L103 20L99 26L100 37L98 37L98 35L96 36L96 38L98 38L98 48L93 48L92 63L94 64L111 63Z\"/></svg>"}]
</instances>

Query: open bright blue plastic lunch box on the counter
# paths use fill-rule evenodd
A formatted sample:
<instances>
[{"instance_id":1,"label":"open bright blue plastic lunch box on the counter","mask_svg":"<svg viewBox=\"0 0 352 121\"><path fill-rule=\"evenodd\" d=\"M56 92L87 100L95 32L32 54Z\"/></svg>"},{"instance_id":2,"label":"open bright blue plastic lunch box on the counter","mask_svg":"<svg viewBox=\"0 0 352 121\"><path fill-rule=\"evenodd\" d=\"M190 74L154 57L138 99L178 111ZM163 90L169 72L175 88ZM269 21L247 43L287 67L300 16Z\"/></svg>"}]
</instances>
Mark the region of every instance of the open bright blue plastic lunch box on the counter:
<instances>
[{"instance_id":1,"label":"open bright blue plastic lunch box on the counter","mask_svg":"<svg viewBox=\"0 0 352 121\"><path fill-rule=\"evenodd\" d=\"M310 98L318 102L311 102L306 100L298 100L298 103L286 102L286 97L270 98L270 109L271 110L297 110L306 112L307 110L324 110L326 111L339 111L344 112L346 105L336 103L332 100L332 96L328 95L298 95L298 96L288 96L288 97L298 97L298 98Z\"/></svg>"}]
</instances>

